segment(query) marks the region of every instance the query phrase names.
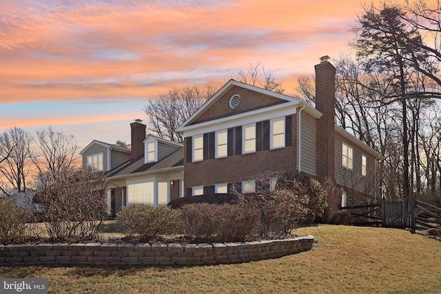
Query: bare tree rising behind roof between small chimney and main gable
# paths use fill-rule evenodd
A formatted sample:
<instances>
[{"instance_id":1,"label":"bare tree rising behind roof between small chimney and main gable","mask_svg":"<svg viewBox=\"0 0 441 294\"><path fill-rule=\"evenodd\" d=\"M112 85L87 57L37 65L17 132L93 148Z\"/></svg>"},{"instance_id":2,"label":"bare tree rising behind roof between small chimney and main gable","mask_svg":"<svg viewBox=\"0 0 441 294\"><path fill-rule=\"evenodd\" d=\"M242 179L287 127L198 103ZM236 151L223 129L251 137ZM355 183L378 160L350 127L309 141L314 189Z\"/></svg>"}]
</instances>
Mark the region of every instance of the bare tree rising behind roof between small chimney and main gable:
<instances>
[{"instance_id":1,"label":"bare tree rising behind roof between small chimney and main gable","mask_svg":"<svg viewBox=\"0 0 441 294\"><path fill-rule=\"evenodd\" d=\"M183 135L176 132L176 129L215 92L212 86L188 85L173 88L158 98L150 98L144 107L150 120L150 131L160 138L183 142Z\"/></svg>"}]
</instances>

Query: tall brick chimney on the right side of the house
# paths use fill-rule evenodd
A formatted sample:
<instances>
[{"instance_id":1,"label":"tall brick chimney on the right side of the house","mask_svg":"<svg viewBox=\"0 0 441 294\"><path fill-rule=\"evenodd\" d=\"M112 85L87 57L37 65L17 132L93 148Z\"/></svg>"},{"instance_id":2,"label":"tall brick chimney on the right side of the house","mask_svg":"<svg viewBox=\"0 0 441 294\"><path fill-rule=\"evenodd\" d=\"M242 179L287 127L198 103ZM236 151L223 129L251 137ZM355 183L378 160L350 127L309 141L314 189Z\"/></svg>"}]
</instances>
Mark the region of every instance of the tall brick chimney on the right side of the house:
<instances>
[{"instance_id":1,"label":"tall brick chimney on the right side of the house","mask_svg":"<svg viewBox=\"0 0 441 294\"><path fill-rule=\"evenodd\" d=\"M322 184L326 180L335 182L335 108L336 108L336 68L329 63L329 56L320 58L316 65L316 109L322 113L317 120L316 165L317 179Z\"/></svg>"}]
</instances>

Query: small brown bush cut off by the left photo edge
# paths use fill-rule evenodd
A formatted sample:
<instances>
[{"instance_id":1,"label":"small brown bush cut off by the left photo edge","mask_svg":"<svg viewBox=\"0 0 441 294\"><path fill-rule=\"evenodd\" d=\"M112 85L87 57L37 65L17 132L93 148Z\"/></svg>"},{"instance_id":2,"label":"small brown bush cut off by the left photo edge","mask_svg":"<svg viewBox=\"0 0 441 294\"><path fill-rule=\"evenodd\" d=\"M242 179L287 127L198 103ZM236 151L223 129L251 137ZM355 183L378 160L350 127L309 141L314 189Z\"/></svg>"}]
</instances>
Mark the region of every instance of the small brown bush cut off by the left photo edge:
<instances>
[{"instance_id":1,"label":"small brown bush cut off by the left photo edge","mask_svg":"<svg viewBox=\"0 0 441 294\"><path fill-rule=\"evenodd\" d=\"M33 236L32 211L0 200L0 244L21 243Z\"/></svg>"}]
</instances>

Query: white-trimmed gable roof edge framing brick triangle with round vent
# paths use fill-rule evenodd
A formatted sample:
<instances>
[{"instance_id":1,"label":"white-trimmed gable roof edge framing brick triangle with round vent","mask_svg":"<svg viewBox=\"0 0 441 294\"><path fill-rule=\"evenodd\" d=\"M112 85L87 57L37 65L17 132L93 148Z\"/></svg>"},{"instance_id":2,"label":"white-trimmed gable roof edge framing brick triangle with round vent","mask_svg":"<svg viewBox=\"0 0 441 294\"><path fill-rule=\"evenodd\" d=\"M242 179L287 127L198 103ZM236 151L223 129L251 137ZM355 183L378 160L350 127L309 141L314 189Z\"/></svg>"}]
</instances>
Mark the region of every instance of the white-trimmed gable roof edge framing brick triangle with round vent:
<instances>
[{"instance_id":1,"label":"white-trimmed gable roof edge framing brick triangle with round vent","mask_svg":"<svg viewBox=\"0 0 441 294\"><path fill-rule=\"evenodd\" d=\"M236 112L236 113L229 114L227 117L215 118L214 120L203 121L201 123L197 123L197 125L192 125L197 120L198 117L200 117L205 111L207 111L207 109L212 107L212 105L214 105L214 103L216 103L224 94L226 94L230 89L232 89L232 87L240 87L245 90L249 90L249 91L259 93L259 94L264 94L264 95L267 95L267 96L270 96L273 98L277 98L282 103L268 105L267 107L260 107L258 109L249 109L249 111L247 111L247 112ZM305 107L305 111L309 112L312 116L314 116L316 118L320 118L320 116L322 115L320 112L318 112L317 109L315 109L314 107L311 107L310 105L307 105L307 103L305 103L305 101L302 101L298 98L294 98L292 96L287 96L285 94L271 92L269 90L265 90L263 88L256 87L254 85L248 85L248 84L241 83L238 81L229 80L225 85L223 85L223 87L220 88L220 90L218 90L218 92L216 92L201 107L199 107L196 110L196 112L194 112L194 114L189 116L189 118L187 118L187 120L185 120L185 122L181 126L178 127L177 131L178 132L185 132L188 129L203 127L204 125L211 125L211 124L219 122L220 120L234 120L236 118L243 117L245 114L247 116L252 116L253 114L259 114L259 113L269 112L269 111L276 111L278 109L283 109L283 108L287 108L287 107L293 107L293 108Z\"/></svg>"}]
</instances>

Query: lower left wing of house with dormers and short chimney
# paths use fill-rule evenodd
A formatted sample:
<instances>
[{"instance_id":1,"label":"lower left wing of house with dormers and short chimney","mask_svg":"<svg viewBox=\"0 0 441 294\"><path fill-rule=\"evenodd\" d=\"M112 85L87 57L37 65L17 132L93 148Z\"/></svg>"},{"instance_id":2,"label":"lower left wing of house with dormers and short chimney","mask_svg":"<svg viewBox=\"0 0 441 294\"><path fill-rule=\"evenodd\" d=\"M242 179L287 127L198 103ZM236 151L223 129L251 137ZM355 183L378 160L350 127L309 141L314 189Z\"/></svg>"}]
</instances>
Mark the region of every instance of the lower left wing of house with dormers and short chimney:
<instances>
[{"instance_id":1,"label":"lower left wing of house with dormers and short chimney","mask_svg":"<svg viewBox=\"0 0 441 294\"><path fill-rule=\"evenodd\" d=\"M167 204L183 196L183 145L146 136L141 120L130 128L131 149L94 140L80 152L83 167L107 172L113 215L133 203Z\"/></svg>"}]
</instances>

